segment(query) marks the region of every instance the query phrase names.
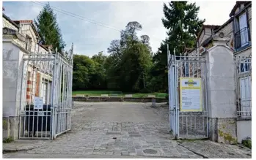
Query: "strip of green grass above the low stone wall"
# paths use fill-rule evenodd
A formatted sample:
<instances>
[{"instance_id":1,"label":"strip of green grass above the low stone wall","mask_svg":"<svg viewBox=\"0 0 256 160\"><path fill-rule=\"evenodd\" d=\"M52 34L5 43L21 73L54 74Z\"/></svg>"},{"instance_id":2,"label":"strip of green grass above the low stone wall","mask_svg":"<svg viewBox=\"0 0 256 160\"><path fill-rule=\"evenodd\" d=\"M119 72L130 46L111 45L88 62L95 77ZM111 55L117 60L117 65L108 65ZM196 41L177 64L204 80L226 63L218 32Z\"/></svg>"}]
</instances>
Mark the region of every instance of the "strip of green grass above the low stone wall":
<instances>
[{"instance_id":1,"label":"strip of green grass above the low stone wall","mask_svg":"<svg viewBox=\"0 0 256 160\"><path fill-rule=\"evenodd\" d=\"M109 94L114 96L125 96L125 94L132 94L133 97L147 97L148 95L155 95L158 98L165 98L167 96L166 93L150 93L150 94L142 94L142 93L122 93L120 91L73 91L73 96L76 94L84 94L84 96L100 96L101 94Z\"/></svg>"}]
</instances>

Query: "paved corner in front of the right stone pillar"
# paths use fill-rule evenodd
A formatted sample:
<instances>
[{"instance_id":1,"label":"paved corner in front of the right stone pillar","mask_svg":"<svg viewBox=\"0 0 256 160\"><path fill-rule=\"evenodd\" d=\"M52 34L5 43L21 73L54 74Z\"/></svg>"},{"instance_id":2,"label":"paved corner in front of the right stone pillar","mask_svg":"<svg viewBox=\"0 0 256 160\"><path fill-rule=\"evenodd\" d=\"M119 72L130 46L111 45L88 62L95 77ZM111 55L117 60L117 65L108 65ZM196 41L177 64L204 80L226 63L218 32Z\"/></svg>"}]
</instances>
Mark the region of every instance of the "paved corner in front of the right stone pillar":
<instances>
[{"instance_id":1,"label":"paved corner in front of the right stone pillar","mask_svg":"<svg viewBox=\"0 0 256 160\"><path fill-rule=\"evenodd\" d=\"M180 142L180 146L208 159L252 159L252 150L242 145L225 145L210 140Z\"/></svg>"}]
</instances>

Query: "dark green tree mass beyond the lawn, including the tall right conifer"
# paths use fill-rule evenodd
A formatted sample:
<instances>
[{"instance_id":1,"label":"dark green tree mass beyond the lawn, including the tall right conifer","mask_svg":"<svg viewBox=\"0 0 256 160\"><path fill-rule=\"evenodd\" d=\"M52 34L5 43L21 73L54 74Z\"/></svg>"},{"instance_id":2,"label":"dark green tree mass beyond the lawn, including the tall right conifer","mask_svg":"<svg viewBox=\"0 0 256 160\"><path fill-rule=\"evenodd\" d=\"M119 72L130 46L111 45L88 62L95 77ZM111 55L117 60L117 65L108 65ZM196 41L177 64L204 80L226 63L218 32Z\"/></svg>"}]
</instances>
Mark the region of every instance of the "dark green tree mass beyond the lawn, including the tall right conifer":
<instances>
[{"instance_id":1,"label":"dark green tree mass beyond the lawn, including the tall right conifer","mask_svg":"<svg viewBox=\"0 0 256 160\"><path fill-rule=\"evenodd\" d=\"M111 41L109 56L98 54L74 57L73 90L111 90L122 92L165 92L168 94L167 44L173 54L185 47L195 47L202 23L199 7L187 1L164 4L162 22L167 28L167 39L161 42L153 55L150 37L137 36L142 25L129 22L120 33L120 39ZM168 96L166 97L168 99Z\"/></svg>"}]
</instances>

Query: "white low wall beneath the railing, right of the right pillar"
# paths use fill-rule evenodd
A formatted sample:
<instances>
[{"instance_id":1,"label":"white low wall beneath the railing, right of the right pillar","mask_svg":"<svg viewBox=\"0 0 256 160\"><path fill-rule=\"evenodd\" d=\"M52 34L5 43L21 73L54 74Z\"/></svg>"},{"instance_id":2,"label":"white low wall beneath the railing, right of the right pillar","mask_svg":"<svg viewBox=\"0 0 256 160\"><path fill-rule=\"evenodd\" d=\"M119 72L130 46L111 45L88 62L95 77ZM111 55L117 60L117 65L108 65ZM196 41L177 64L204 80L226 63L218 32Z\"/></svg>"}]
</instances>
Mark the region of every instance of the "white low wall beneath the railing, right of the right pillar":
<instances>
[{"instance_id":1,"label":"white low wall beneath the railing, right of the right pillar","mask_svg":"<svg viewBox=\"0 0 256 160\"><path fill-rule=\"evenodd\" d=\"M252 138L252 121L236 121L238 142L246 137Z\"/></svg>"}]
</instances>

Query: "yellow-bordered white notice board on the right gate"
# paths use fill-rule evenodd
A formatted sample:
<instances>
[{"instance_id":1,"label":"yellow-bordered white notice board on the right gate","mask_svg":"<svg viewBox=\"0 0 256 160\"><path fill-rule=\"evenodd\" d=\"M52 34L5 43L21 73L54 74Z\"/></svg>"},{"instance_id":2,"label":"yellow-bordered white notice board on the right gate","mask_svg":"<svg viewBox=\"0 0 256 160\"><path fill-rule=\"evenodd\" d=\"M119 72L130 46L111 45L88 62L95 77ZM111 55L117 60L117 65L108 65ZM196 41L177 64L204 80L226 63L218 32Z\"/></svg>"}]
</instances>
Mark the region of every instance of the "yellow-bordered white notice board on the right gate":
<instances>
[{"instance_id":1,"label":"yellow-bordered white notice board on the right gate","mask_svg":"<svg viewBox=\"0 0 256 160\"><path fill-rule=\"evenodd\" d=\"M180 77L180 111L202 112L201 78Z\"/></svg>"}]
</instances>

